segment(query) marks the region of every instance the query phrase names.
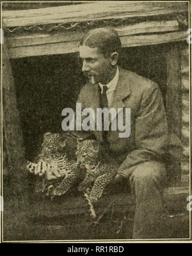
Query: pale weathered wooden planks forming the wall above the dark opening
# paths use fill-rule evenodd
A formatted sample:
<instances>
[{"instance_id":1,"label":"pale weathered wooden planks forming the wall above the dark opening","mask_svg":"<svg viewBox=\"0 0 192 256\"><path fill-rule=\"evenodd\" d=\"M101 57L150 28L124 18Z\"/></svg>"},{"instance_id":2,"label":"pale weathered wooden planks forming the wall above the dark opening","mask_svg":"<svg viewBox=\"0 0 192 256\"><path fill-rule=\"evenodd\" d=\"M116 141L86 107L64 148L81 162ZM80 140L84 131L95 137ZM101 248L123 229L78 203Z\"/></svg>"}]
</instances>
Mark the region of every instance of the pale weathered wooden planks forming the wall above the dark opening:
<instances>
[{"instance_id":1,"label":"pale weathered wooden planks forming the wall above the dark opening","mask_svg":"<svg viewBox=\"0 0 192 256\"><path fill-rule=\"evenodd\" d=\"M11 58L74 53L83 35L99 26L115 28L123 47L184 41L188 3L97 2L3 11Z\"/></svg>"}]
</instances>

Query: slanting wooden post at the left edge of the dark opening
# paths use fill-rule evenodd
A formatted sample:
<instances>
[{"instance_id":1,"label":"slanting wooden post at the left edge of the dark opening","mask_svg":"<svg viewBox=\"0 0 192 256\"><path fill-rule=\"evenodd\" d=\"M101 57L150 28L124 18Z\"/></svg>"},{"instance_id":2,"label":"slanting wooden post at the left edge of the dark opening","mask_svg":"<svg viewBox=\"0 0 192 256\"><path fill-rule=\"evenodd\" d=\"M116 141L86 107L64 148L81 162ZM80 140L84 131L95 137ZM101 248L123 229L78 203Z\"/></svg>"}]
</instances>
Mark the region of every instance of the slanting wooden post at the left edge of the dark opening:
<instances>
[{"instance_id":1,"label":"slanting wooden post at the left edge of the dark opening","mask_svg":"<svg viewBox=\"0 0 192 256\"><path fill-rule=\"evenodd\" d=\"M24 143L20 127L19 111L12 68L6 48L3 44L3 134L6 164L11 179L11 190L16 194L26 191L27 172L23 170L25 163Z\"/></svg>"}]
</instances>

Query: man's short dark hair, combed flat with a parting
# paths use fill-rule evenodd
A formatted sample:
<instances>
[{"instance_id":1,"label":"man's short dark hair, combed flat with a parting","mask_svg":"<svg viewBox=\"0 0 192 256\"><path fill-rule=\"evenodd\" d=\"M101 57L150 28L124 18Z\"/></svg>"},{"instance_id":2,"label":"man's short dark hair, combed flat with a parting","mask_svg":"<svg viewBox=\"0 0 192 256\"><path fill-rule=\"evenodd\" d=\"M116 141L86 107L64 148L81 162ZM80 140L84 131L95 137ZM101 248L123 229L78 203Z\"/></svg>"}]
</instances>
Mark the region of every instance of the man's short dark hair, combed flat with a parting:
<instances>
[{"instance_id":1,"label":"man's short dark hair, combed flat with a parting","mask_svg":"<svg viewBox=\"0 0 192 256\"><path fill-rule=\"evenodd\" d=\"M83 45L98 48L104 57L108 57L115 51L119 53L122 47L120 37L113 28L95 28L91 30L81 39L80 46Z\"/></svg>"}]
</instances>

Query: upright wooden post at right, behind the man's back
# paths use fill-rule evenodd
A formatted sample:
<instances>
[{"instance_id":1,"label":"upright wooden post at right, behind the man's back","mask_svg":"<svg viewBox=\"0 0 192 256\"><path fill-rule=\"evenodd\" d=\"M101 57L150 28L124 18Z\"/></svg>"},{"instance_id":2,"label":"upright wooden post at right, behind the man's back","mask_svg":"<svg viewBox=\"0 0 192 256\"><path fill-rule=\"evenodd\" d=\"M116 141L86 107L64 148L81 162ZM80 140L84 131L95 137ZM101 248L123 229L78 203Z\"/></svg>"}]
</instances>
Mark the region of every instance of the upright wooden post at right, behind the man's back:
<instances>
[{"instance_id":1,"label":"upright wooden post at right, behind the man's back","mask_svg":"<svg viewBox=\"0 0 192 256\"><path fill-rule=\"evenodd\" d=\"M170 46L166 55L167 66L167 91L166 91L166 112L168 116L168 129L170 138L181 138L181 116L182 116L182 101L181 101L181 75L180 75L180 48L178 44ZM175 138L175 139L174 139ZM180 150L181 156L182 152ZM180 160L170 165L172 185L180 182Z\"/></svg>"}]
</instances>

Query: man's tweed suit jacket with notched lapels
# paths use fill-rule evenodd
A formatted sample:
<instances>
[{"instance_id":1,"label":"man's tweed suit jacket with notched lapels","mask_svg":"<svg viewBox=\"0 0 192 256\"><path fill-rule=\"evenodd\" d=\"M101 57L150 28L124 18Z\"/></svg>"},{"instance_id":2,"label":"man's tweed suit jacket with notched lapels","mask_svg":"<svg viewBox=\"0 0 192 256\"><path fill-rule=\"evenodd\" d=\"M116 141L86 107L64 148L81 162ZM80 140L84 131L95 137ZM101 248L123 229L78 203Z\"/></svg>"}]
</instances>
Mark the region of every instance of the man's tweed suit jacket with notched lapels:
<instances>
[{"instance_id":1,"label":"man's tweed suit jacket with notched lapels","mask_svg":"<svg viewBox=\"0 0 192 256\"><path fill-rule=\"evenodd\" d=\"M79 94L77 102L82 109L90 107L95 112L100 107L99 90L95 84L86 84ZM120 68L119 78L113 95L111 107L131 108L131 134L128 138L119 138L122 131L108 132L110 154L120 163L118 174L129 176L129 169L145 161L161 158L168 147L168 125L159 86L136 73ZM95 125L96 127L96 125ZM118 128L118 127L117 127ZM102 142L102 132L86 131L85 136L93 133L98 142Z\"/></svg>"}]
</instances>

